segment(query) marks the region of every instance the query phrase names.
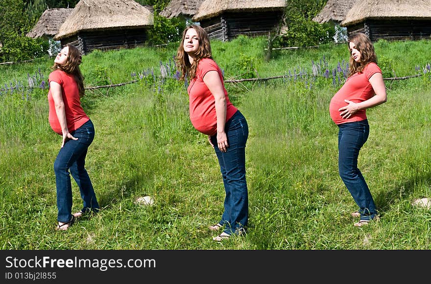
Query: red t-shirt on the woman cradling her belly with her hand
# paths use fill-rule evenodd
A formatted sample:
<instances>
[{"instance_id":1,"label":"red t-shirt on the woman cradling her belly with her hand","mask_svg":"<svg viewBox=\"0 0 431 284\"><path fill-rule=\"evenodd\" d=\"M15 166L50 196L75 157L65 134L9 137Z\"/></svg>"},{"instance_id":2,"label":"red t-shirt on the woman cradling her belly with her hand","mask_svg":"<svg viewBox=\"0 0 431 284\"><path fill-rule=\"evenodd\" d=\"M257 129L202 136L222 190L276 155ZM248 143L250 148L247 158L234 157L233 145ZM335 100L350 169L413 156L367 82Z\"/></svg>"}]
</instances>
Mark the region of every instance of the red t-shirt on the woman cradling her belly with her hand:
<instances>
[{"instance_id":1,"label":"red t-shirt on the woman cradling her belly with her hand","mask_svg":"<svg viewBox=\"0 0 431 284\"><path fill-rule=\"evenodd\" d=\"M329 104L329 114L335 124L360 121L367 118L366 109L357 111L347 119L340 116L341 112L338 109L347 105L344 101L345 99L358 103L373 97L375 93L368 80L375 73L382 73L382 70L380 70L376 63L368 63L362 72L355 73L347 78L341 89L332 97Z\"/></svg>"}]
</instances>

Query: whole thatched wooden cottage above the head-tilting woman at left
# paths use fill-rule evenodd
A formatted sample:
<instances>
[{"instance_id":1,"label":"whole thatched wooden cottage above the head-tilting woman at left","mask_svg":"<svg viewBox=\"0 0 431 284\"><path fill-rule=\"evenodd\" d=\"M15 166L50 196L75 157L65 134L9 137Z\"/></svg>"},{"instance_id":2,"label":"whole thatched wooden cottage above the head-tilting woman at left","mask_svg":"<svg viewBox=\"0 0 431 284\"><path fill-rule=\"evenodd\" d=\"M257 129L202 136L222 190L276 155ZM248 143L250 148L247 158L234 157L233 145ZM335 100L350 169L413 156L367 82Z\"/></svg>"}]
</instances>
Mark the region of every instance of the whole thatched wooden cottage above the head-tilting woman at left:
<instances>
[{"instance_id":1,"label":"whole thatched wooden cottage above the head-tilting woman at left","mask_svg":"<svg viewBox=\"0 0 431 284\"><path fill-rule=\"evenodd\" d=\"M133 0L80 0L54 40L78 47L82 54L142 46L154 15Z\"/></svg>"}]
</instances>

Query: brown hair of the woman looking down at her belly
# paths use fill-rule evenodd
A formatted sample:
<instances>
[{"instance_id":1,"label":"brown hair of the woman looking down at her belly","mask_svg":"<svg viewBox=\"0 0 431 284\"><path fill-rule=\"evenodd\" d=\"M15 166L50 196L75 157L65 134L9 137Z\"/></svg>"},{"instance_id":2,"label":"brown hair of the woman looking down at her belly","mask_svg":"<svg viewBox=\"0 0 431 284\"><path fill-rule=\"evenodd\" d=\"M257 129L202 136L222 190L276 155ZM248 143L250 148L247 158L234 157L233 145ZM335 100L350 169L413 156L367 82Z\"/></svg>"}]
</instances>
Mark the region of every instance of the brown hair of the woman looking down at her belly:
<instances>
[{"instance_id":1,"label":"brown hair of the woman looking down at her belly","mask_svg":"<svg viewBox=\"0 0 431 284\"><path fill-rule=\"evenodd\" d=\"M349 76L352 76L357 72L362 72L365 66L370 62L377 63L377 56L376 52L374 51L373 43L366 34L359 32L349 36L347 39L347 45L349 46L350 43L355 44L355 48L359 50L360 59L359 62L356 62L355 59L353 59L352 52L350 52Z\"/></svg>"}]
</instances>

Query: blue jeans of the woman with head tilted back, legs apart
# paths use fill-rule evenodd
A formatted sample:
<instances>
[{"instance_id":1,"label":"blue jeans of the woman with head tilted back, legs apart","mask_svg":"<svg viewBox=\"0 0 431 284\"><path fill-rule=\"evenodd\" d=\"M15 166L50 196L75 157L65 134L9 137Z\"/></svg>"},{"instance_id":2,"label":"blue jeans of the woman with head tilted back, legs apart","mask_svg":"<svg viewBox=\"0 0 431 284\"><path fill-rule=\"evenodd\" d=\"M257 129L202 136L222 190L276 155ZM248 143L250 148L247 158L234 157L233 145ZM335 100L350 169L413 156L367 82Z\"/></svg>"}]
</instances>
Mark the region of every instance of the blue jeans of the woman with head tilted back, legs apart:
<instances>
[{"instance_id":1,"label":"blue jeans of the woman with head tilted back, legs apart","mask_svg":"<svg viewBox=\"0 0 431 284\"><path fill-rule=\"evenodd\" d=\"M90 177L85 169L85 157L95 136L93 122L88 120L81 127L71 132L78 140L68 140L58 152L54 162L55 185L57 187L57 220L65 223L72 220L72 184L71 177L79 187L84 203L82 212L97 212L99 205Z\"/></svg>"}]
</instances>

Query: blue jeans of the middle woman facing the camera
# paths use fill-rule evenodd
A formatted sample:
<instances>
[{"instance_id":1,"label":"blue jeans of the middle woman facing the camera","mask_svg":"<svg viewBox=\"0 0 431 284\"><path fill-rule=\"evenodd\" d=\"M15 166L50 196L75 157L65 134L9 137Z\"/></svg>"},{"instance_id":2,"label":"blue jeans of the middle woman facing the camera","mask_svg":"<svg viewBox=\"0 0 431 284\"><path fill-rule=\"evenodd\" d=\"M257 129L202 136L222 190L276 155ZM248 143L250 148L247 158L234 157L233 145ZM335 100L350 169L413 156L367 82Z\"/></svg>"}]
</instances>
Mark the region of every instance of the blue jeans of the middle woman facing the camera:
<instances>
[{"instance_id":1,"label":"blue jeans of the middle woman facing the camera","mask_svg":"<svg viewBox=\"0 0 431 284\"><path fill-rule=\"evenodd\" d=\"M226 152L218 149L217 135L211 136L223 177L224 212L219 222L226 234L239 234L248 222L248 190L245 180L245 144L248 138L248 124L237 111L226 121L225 132L229 147Z\"/></svg>"}]
</instances>

